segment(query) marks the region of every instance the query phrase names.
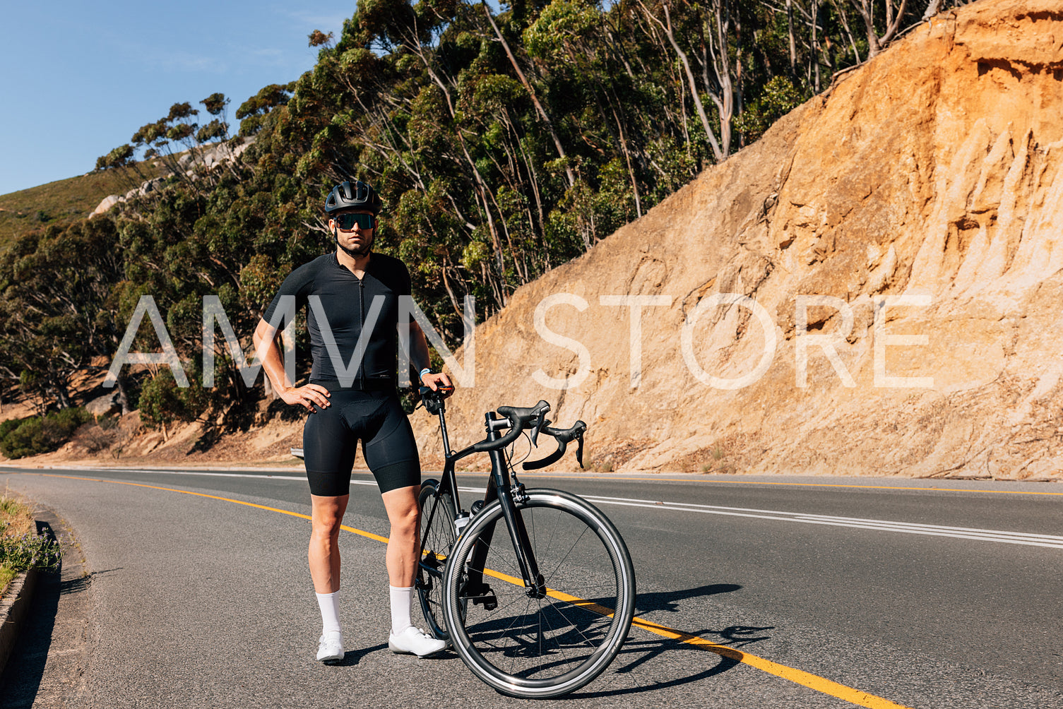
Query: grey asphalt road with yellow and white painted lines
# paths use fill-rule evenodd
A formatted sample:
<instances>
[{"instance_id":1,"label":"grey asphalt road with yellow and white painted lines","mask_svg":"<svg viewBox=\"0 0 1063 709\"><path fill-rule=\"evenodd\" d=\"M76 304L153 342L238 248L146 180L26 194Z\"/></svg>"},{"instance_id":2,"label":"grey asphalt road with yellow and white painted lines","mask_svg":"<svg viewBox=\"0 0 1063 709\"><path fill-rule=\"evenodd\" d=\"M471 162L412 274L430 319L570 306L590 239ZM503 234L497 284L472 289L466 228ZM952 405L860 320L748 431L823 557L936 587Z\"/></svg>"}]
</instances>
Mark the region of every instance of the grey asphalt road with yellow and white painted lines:
<instances>
[{"instance_id":1,"label":"grey asphalt road with yellow and white painted lines","mask_svg":"<svg viewBox=\"0 0 1063 709\"><path fill-rule=\"evenodd\" d=\"M537 706L1063 708L1063 485L523 478L594 501L630 548L637 618L682 634L637 627L602 677ZM370 479L355 475L345 524L386 536ZM38 706L527 703L456 656L389 653L385 547L357 534L341 537L347 658L316 663L308 522L276 511L309 512L298 473L0 470L0 485L69 525L88 574L69 591L87 609L83 647L53 634L29 673L38 699L68 690ZM72 681L53 655L77 652ZM0 705L28 706L9 689Z\"/></svg>"}]
</instances>

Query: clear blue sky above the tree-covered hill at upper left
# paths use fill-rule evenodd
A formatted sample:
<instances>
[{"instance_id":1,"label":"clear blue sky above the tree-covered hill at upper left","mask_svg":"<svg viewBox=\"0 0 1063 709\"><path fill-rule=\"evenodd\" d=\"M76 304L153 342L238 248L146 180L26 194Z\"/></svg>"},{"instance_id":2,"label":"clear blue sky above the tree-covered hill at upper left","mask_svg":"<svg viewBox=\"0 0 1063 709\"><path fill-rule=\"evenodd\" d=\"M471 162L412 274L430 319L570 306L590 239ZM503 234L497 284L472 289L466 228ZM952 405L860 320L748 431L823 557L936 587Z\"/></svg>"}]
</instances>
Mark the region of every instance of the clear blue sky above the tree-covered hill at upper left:
<instances>
[{"instance_id":1,"label":"clear blue sky above the tree-covered hill at upper left","mask_svg":"<svg viewBox=\"0 0 1063 709\"><path fill-rule=\"evenodd\" d=\"M83 174L179 101L221 91L233 114L314 66L355 2L4 3L0 195ZM205 116L205 112L203 113Z\"/></svg>"}]
</instances>

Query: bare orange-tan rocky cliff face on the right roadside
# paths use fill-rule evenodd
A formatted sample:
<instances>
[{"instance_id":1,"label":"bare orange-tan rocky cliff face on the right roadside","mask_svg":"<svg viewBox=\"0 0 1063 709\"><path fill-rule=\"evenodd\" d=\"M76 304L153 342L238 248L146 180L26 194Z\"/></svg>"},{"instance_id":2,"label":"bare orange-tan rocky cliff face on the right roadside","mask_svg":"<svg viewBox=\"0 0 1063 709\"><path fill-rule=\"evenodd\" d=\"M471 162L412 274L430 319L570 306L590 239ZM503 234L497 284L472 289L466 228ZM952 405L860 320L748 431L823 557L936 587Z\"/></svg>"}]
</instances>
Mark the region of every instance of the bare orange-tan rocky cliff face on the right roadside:
<instances>
[{"instance_id":1,"label":"bare orange-tan rocky cliff face on the right roadside","mask_svg":"<svg viewBox=\"0 0 1063 709\"><path fill-rule=\"evenodd\" d=\"M452 440L541 398L600 469L1058 476L1061 167L1059 2L939 15L517 291Z\"/></svg>"}]
</instances>

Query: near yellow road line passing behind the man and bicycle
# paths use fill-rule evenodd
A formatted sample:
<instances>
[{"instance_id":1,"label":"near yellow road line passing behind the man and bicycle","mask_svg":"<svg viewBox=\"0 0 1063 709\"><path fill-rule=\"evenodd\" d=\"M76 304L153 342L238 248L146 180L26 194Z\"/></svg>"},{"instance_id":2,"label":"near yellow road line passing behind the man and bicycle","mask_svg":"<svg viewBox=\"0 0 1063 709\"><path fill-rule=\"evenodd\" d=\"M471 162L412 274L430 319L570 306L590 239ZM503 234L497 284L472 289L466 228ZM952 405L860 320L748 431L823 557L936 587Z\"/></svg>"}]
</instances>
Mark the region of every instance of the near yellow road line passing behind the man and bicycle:
<instances>
[{"instance_id":1,"label":"near yellow road line passing behind the man and bicycle","mask_svg":"<svg viewBox=\"0 0 1063 709\"><path fill-rule=\"evenodd\" d=\"M289 514L291 517L298 517L304 520L310 519L310 517L307 514L301 514L299 512L292 512L276 507L267 507L266 505L256 505L254 503L243 502L241 500L233 500L232 497L209 495L202 492L191 492L189 490L178 490L176 488L164 488L156 485L145 485L142 483L129 483L125 480L105 480L98 477L78 477L75 475L55 475L49 473L16 473L16 474L43 475L45 477L63 477L71 480L87 480L91 483L113 483L115 485L131 485L139 488L150 488L152 490L165 490L167 492L181 492L183 494L197 495L199 497L208 497L210 500L220 500L222 502L231 502L237 505L246 505L247 507L265 509L271 512L281 512L282 514ZM623 479L630 479L630 478L623 478ZM387 537L382 537L381 535L375 535L371 531L356 529L354 527L349 527L347 525L342 525L340 528L359 535L361 537L374 539L379 542L387 543L388 541ZM489 576L492 576L493 578L497 578L500 580L504 580L509 584L513 584L516 586L520 587L524 586L524 581L522 579L517 578L514 576L510 576L508 574L503 574L496 571L492 571L490 569L485 569L484 573ZM571 603L581 608L586 608L590 611L600 613L602 615L612 615L613 612L611 608L606 608L605 606L601 606L592 601L587 601L578 596L569 595L568 593L562 593L560 591L555 591L553 589L549 590L547 595L555 597L559 601L563 601L566 603ZM762 672L766 672L770 675L781 677L782 679L788 679L797 685L802 685L804 687L808 687L809 689L813 689L817 692L822 692L823 694L829 694L830 696L838 697L839 699L844 699L845 702L855 704L858 707L866 707L867 709L909 709L904 705L890 702L889 699L884 699L875 694L861 692L858 689L854 689L845 685L840 685L836 681L827 679L826 677L820 677L819 675L813 675L812 673L805 672L804 670L797 670L796 668L791 668L786 664L779 664L778 662L773 662L771 660L764 659L757 655L753 655L750 653L744 653L740 649L728 647L727 645L721 645L710 640L706 640L705 638L699 638L698 636L692 636L688 632L682 632L680 630L676 630L675 628L670 628L667 625L659 625L657 623L653 623L651 621L646 621L641 618L634 619L631 621L631 625L641 628L643 630L646 630L647 632L660 636L662 638L668 638L670 640L679 640L680 642L687 643L689 645L695 645L697 647L702 647L711 653L715 653L716 655L720 655L722 657L726 657L737 662L748 664Z\"/></svg>"}]
</instances>

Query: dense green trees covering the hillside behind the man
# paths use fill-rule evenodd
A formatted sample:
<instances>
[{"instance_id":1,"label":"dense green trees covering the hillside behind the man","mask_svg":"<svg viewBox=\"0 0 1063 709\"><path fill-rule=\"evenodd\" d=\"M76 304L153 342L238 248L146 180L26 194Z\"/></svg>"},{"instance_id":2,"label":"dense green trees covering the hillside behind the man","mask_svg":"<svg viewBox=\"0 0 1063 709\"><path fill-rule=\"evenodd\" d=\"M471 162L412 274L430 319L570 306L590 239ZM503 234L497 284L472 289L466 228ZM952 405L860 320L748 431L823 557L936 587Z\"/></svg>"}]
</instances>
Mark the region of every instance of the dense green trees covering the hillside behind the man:
<instances>
[{"instance_id":1,"label":"dense green trees covering the hillside behind the man","mask_svg":"<svg viewBox=\"0 0 1063 709\"><path fill-rule=\"evenodd\" d=\"M959 1L520 0L495 13L361 0L338 38L308 35L310 71L239 105L232 140L254 142L238 159L197 157L230 139L229 99L203 99L202 124L175 103L98 163L126 169L142 151L171 168L168 180L117 216L35 233L0 257L0 372L11 383L28 373L23 388L62 402L75 368L113 354L146 293L183 359L201 356L207 294L250 349L277 284L335 248L321 205L352 178L384 198L375 248L409 265L418 303L457 344L465 296L490 316L924 12ZM146 420L234 411L259 395L216 342L221 388L197 399L164 370L145 385ZM157 351L150 328L137 348Z\"/></svg>"}]
</instances>

